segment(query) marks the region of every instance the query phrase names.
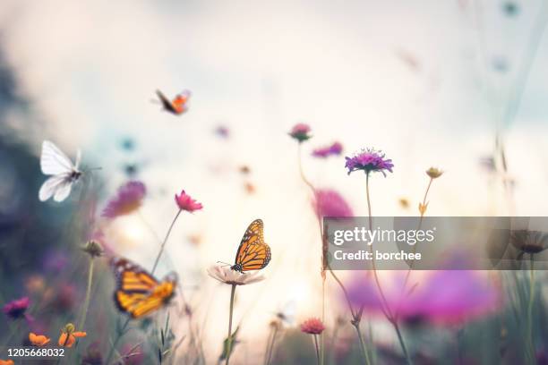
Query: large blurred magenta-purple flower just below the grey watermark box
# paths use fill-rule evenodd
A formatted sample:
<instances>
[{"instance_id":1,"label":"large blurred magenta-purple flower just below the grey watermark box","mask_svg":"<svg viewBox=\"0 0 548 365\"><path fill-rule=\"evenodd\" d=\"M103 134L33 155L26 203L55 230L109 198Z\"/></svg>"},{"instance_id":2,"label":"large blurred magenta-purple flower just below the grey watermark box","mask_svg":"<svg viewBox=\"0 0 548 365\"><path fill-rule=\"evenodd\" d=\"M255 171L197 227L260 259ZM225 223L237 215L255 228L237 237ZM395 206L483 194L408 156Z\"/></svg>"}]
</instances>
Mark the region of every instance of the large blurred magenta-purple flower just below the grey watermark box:
<instances>
[{"instance_id":1,"label":"large blurred magenta-purple flower just below the grey watermark box","mask_svg":"<svg viewBox=\"0 0 548 365\"><path fill-rule=\"evenodd\" d=\"M437 270L425 276L411 290L402 290L405 272L398 272L383 293L392 313L407 321L460 323L478 318L499 308L499 287L472 270ZM348 295L357 307L381 314L381 296L372 277L361 274L348 286Z\"/></svg>"}]
</instances>

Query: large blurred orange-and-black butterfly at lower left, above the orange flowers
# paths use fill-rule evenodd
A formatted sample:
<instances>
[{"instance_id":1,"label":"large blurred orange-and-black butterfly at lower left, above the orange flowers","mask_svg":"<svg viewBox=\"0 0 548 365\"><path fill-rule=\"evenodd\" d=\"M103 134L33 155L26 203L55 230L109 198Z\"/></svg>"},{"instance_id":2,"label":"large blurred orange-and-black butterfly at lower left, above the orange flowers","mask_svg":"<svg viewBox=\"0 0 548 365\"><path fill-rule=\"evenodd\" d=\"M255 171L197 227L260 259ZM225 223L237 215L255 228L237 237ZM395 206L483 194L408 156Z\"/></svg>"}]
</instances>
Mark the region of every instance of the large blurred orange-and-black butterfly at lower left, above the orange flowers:
<instances>
[{"instance_id":1,"label":"large blurred orange-and-black butterfly at lower left, above the orange flowers","mask_svg":"<svg viewBox=\"0 0 548 365\"><path fill-rule=\"evenodd\" d=\"M147 316L165 307L175 295L175 273L158 282L142 267L127 259L113 259L112 265L117 280L114 295L116 306L133 318Z\"/></svg>"}]
</instances>

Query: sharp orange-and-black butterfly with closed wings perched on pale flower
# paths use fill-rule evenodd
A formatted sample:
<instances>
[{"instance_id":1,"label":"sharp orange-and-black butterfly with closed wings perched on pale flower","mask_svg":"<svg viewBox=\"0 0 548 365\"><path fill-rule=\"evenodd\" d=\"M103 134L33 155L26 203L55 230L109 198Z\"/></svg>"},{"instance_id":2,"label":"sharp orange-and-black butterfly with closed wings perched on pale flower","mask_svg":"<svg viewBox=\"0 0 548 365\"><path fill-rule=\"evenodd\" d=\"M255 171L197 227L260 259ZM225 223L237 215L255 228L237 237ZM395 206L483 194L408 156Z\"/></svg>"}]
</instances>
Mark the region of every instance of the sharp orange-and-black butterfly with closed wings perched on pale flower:
<instances>
[{"instance_id":1,"label":"sharp orange-and-black butterfly with closed wings perched on pale flower","mask_svg":"<svg viewBox=\"0 0 548 365\"><path fill-rule=\"evenodd\" d=\"M260 270L270 262L270 247L264 242L261 219L255 219L247 227L236 252L235 264L231 266L235 271Z\"/></svg>"}]
</instances>

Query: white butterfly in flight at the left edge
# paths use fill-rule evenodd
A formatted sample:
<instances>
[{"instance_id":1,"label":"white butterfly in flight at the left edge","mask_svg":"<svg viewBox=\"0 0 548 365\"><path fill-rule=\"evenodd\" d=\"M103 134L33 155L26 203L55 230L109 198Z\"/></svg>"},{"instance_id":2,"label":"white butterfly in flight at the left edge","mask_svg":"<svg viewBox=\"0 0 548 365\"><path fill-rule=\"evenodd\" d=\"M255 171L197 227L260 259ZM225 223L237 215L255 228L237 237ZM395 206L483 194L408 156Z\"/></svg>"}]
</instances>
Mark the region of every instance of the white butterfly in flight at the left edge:
<instances>
[{"instance_id":1,"label":"white butterfly in flight at the left edge","mask_svg":"<svg viewBox=\"0 0 548 365\"><path fill-rule=\"evenodd\" d=\"M53 142L44 140L42 142L42 156L40 157L40 167L42 173L52 175L49 177L39 191L39 199L46 201L54 197L56 201L63 201L71 193L73 183L76 183L81 177L80 149L76 155L76 163L63 153Z\"/></svg>"}]
</instances>

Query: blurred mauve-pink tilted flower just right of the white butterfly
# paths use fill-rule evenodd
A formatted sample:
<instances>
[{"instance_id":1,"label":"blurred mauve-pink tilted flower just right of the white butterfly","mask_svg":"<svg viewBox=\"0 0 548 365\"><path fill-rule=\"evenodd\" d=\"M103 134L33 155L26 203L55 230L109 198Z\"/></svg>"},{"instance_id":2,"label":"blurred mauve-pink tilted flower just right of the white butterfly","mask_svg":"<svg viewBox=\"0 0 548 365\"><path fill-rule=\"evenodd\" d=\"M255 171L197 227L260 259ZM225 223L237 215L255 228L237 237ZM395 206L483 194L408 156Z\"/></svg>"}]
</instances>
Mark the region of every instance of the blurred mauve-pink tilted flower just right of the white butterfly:
<instances>
[{"instance_id":1,"label":"blurred mauve-pink tilted flower just right of the white butterfly","mask_svg":"<svg viewBox=\"0 0 548 365\"><path fill-rule=\"evenodd\" d=\"M129 182L122 185L116 196L108 200L107 207L103 209L101 216L116 218L132 213L141 207L147 189L141 182Z\"/></svg>"}]
</instances>

